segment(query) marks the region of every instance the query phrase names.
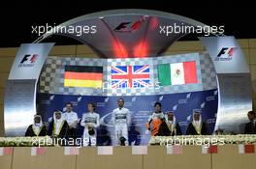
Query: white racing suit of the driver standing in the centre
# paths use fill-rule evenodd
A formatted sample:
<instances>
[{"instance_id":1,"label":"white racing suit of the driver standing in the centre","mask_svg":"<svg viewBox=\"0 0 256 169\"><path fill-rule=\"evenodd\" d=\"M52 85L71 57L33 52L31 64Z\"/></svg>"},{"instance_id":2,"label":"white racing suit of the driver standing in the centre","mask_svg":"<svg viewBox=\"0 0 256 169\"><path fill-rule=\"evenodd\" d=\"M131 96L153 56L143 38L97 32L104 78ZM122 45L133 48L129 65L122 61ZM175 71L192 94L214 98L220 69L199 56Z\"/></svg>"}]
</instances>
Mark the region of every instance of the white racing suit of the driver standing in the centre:
<instances>
[{"instance_id":1,"label":"white racing suit of the driver standing in the centre","mask_svg":"<svg viewBox=\"0 0 256 169\"><path fill-rule=\"evenodd\" d=\"M125 146L128 146L128 128L131 122L131 115L130 111L127 108L122 107L115 108L112 110L112 124L114 127L114 142L113 145L117 146L120 145L120 137L124 137Z\"/></svg>"}]
</instances>

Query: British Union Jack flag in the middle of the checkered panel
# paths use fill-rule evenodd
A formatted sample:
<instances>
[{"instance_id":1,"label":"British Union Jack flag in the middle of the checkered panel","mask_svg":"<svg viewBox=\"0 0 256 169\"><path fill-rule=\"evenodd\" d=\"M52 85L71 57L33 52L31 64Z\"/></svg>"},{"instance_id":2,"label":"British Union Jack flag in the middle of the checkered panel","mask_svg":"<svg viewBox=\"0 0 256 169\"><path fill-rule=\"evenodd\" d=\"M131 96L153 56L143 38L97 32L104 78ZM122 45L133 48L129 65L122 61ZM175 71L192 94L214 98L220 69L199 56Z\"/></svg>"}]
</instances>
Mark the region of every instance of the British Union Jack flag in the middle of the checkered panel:
<instances>
[{"instance_id":1,"label":"British Union Jack flag in the middle of the checkered panel","mask_svg":"<svg viewBox=\"0 0 256 169\"><path fill-rule=\"evenodd\" d=\"M149 87L149 73L148 65L112 67L112 88Z\"/></svg>"}]
</instances>

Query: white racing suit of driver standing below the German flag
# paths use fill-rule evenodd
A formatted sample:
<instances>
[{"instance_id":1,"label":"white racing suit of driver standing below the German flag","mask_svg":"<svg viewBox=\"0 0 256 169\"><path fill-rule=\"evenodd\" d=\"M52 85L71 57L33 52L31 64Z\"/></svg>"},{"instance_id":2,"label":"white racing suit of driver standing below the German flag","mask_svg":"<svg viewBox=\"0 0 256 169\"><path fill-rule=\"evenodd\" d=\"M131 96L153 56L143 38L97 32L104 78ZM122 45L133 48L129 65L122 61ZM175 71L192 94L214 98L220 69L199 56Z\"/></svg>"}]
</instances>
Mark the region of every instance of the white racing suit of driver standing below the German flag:
<instances>
[{"instance_id":1,"label":"white racing suit of driver standing below the German flag","mask_svg":"<svg viewBox=\"0 0 256 169\"><path fill-rule=\"evenodd\" d=\"M89 135L88 127L86 125L91 125L95 131L94 135ZM97 113L84 113L80 121L80 126L84 127L83 130L83 146L96 146L97 144L97 127L100 126L100 115Z\"/></svg>"}]
</instances>

